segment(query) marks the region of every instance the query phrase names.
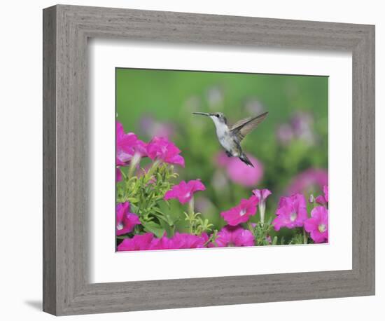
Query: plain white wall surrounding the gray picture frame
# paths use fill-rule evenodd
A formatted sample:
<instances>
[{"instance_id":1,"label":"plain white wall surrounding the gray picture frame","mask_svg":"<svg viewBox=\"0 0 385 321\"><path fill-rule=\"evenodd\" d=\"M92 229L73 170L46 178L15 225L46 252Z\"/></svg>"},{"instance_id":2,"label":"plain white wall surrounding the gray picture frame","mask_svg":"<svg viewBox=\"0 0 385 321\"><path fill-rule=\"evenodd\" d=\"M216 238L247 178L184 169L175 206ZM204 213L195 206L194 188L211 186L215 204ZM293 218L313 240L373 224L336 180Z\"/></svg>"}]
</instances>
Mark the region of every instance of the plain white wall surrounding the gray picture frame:
<instances>
[{"instance_id":1,"label":"plain white wall surrounding the gray picture frame","mask_svg":"<svg viewBox=\"0 0 385 321\"><path fill-rule=\"evenodd\" d=\"M381 1L221 1L87 0L66 4L159 11L250 15L376 25L377 43L377 295L242 306L83 315L69 320L367 320L384 317L384 59L385 20ZM42 112L41 10L53 1L7 1L1 6L0 32L0 315L3 320L50 320L41 312ZM382 59L381 59L382 58ZM382 120L382 121L381 121ZM384 144L382 144L384 145ZM382 146L383 147L383 146ZM382 273L381 273L382 272ZM382 275L381 275L382 274ZM382 304L381 304L382 303Z\"/></svg>"}]
</instances>

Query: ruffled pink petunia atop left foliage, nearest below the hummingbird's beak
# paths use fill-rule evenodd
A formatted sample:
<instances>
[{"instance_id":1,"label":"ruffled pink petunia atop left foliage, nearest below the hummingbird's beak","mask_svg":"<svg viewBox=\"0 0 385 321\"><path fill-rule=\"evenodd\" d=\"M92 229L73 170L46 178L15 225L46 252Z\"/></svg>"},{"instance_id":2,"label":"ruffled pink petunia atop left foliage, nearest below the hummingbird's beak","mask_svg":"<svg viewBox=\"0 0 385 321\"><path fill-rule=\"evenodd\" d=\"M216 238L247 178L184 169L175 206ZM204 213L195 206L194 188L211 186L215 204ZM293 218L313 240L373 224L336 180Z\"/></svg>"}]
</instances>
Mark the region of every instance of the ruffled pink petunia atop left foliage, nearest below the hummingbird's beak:
<instances>
[{"instance_id":1,"label":"ruffled pink petunia atop left foliage, nearest below the hummingbird's beak","mask_svg":"<svg viewBox=\"0 0 385 321\"><path fill-rule=\"evenodd\" d=\"M181 150L165 137L155 136L147 145L147 154L152 160L158 158L165 163L184 167L185 160L179 153L181 153Z\"/></svg>"}]
</instances>

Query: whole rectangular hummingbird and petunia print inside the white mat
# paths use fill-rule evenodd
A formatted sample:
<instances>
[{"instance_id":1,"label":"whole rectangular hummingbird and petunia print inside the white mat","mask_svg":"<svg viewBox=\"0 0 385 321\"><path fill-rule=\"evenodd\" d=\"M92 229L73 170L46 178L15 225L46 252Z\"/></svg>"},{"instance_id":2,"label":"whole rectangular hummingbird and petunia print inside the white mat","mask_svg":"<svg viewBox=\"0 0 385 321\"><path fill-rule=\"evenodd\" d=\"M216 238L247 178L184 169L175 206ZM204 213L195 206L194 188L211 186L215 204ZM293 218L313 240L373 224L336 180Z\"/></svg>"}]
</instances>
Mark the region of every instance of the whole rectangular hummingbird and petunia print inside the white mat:
<instances>
[{"instance_id":1,"label":"whole rectangular hummingbird and petunia print inside the white mat","mask_svg":"<svg viewBox=\"0 0 385 321\"><path fill-rule=\"evenodd\" d=\"M328 77L116 68L116 250L328 243Z\"/></svg>"}]
</instances>

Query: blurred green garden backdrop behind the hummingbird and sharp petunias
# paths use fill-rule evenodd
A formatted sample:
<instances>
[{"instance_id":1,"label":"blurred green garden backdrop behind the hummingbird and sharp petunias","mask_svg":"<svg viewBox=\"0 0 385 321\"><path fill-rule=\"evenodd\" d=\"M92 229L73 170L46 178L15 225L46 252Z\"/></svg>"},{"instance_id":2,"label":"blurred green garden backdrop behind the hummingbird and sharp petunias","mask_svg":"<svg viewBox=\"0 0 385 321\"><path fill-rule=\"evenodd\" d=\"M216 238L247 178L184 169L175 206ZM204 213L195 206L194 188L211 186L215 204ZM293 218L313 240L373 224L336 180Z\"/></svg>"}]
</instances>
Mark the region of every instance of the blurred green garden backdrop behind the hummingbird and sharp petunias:
<instances>
[{"instance_id":1,"label":"blurred green garden backdrop behind the hummingbird and sharp petunias","mask_svg":"<svg viewBox=\"0 0 385 321\"><path fill-rule=\"evenodd\" d=\"M253 175L244 168L233 168L231 176L228 165L218 163L223 149L214 123L193 111L222 111L229 123L269 111L241 144L258 160L255 182L249 182ZM202 179L207 190L195 194L195 207L215 228L225 225L220 212L251 196L252 189L272 191L269 219L280 196L318 195L327 184L328 77L118 68L116 113L125 132L145 142L166 136L181 149L186 168L176 166L175 183ZM239 166L246 165L239 161ZM186 209L177 200L171 203L170 213L183 219ZM255 215L252 221L258 219ZM183 231L183 220L178 224Z\"/></svg>"}]
</instances>

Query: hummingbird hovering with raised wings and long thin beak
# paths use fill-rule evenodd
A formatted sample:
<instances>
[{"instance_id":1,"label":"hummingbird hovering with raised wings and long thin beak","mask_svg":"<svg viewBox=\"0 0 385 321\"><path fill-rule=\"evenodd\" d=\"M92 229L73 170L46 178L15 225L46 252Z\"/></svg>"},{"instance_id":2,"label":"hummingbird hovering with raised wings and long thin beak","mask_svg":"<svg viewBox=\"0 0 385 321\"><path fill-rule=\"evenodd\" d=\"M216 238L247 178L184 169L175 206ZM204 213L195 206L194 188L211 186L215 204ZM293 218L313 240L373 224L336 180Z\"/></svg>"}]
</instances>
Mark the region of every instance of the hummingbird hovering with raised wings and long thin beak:
<instances>
[{"instance_id":1,"label":"hummingbird hovering with raised wings and long thin beak","mask_svg":"<svg viewBox=\"0 0 385 321\"><path fill-rule=\"evenodd\" d=\"M266 118L268 112L255 117L243 118L234 125L228 124L228 119L223 113L194 112L193 114L209 116L214 121L216 136L228 157L238 157L246 165L254 167L241 149L241 140Z\"/></svg>"}]
</instances>

